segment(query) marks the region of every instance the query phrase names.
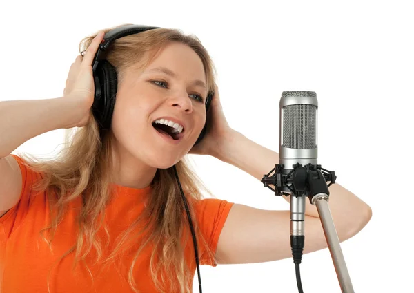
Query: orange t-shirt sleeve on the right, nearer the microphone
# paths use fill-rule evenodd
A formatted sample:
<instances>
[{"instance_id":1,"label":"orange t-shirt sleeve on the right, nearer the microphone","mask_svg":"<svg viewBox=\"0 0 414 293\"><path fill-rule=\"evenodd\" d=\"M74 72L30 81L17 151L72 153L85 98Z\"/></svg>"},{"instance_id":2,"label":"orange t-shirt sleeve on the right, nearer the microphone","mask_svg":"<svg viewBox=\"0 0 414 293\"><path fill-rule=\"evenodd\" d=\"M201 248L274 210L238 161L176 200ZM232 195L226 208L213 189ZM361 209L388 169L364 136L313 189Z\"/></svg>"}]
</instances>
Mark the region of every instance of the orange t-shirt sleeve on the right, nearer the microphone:
<instances>
[{"instance_id":1,"label":"orange t-shirt sleeve on the right, nearer the microphone","mask_svg":"<svg viewBox=\"0 0 414 293\"><path fill-rule=\"evenodd\" d=\"M197 223L213 255L216 253L219 236L231 207L233 207L233 202L217 198L205 198L195 203ZM209 257L206 249L202 249L199 256L201 265L217 266L215 260Z\"/></svg>"}]
</instances>

